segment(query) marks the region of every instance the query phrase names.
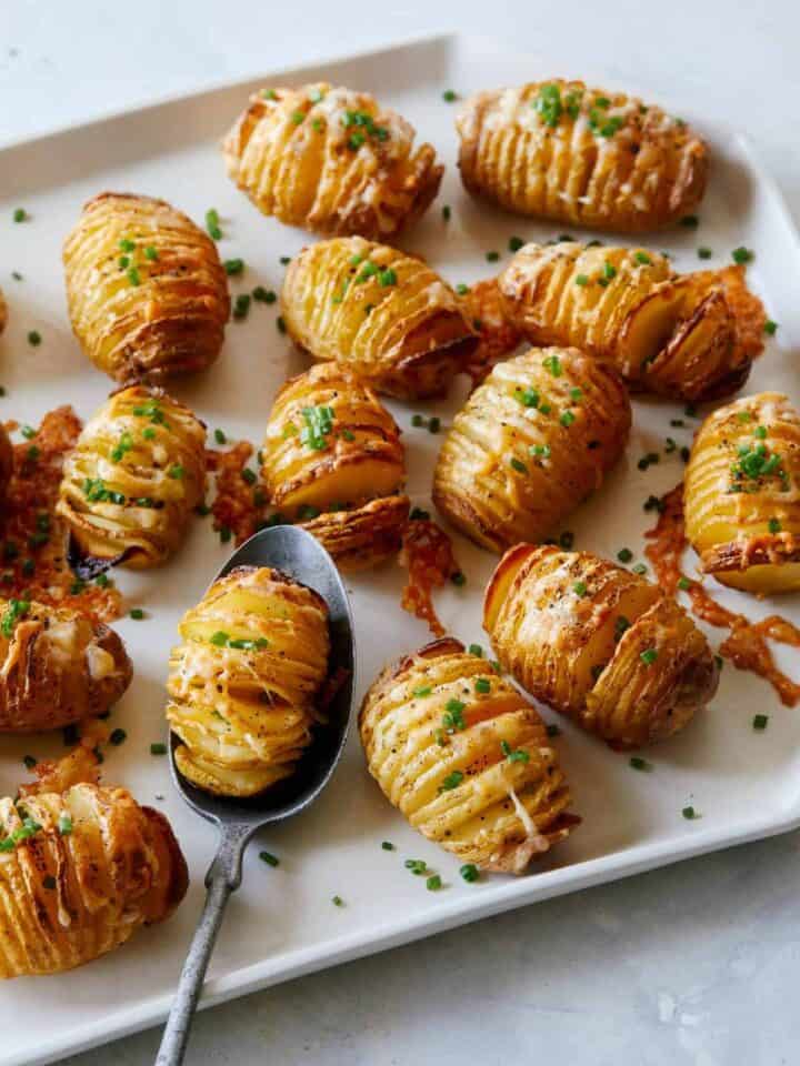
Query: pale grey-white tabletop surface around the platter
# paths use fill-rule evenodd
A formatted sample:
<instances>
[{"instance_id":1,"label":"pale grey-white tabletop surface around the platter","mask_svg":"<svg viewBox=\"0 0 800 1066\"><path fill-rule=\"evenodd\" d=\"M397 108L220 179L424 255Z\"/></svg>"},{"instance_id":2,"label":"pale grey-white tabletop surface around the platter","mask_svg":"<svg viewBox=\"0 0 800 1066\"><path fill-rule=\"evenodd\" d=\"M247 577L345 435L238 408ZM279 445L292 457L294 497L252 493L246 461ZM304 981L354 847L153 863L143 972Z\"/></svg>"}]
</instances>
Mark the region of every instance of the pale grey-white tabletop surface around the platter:
<instances>
[{"instance_id":1,"label":"pale grey-white tabletop surface around the platter","mask_svg":"<svg viewBox=\"0 0 800 1066\"><path fill-rule=\"evenodd\" d=\"M678 80L698 111L751 137L800 219L800 8L790 0L673 0L660 11L643 0L2 0L0 142L450 28L513 37L553 72L604 66L617 82L664 92ZM198 1019L190 1062L794 1064L799 845L790 834L719 853L218 1007ZM69 1063L144 1066L157 1045L144 1033Z\"/></svg>"}]
</instances>

